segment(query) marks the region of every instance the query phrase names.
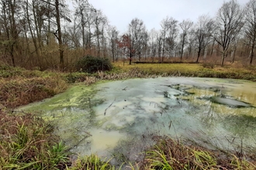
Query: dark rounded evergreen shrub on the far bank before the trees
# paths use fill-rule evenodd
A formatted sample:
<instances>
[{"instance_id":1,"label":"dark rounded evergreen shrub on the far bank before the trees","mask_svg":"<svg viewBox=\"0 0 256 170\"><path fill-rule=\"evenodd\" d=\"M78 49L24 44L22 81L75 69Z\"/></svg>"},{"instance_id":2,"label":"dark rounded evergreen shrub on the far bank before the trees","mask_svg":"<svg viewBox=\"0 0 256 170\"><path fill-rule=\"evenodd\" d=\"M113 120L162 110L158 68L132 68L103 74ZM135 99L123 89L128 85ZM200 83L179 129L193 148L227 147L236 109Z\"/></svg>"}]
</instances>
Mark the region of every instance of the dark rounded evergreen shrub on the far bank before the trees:
<instances>
[{"instance_id":1,"label":"dark rounded evergreen shrub on the far bank before the trees","mask_svg":"<svg viewBox=\"0 0 256 170\"><path fill-rule=\"evenodd\" d=\"M76 63L76 69L82 72L95 73L97 71L112 70L112 64L107 58L99 58L95 56L84 56Z\"/></svg>"}]
</instances>

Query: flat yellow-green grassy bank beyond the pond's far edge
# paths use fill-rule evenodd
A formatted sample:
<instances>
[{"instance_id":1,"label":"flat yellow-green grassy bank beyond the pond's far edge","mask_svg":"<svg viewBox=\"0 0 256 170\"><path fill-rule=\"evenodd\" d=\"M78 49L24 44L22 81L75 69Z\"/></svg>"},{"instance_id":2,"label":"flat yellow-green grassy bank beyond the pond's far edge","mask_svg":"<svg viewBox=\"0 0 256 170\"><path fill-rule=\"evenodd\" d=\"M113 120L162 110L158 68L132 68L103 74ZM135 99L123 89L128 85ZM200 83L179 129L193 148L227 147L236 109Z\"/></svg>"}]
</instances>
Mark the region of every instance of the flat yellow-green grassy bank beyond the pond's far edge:
<instances>
[{"instance_id":1,"label":"flat yellow-green grassy bank beyond the pond's far edge","mask_svg":"<svg viewBox=\"0 0 256 170\"><path fill-rule=\"evenodd\" d=\"M256 81L256 66L214 66L208 63L114 63L125 72L137 70L144 75L199 76Z\"/></svg>"}]
</instances>

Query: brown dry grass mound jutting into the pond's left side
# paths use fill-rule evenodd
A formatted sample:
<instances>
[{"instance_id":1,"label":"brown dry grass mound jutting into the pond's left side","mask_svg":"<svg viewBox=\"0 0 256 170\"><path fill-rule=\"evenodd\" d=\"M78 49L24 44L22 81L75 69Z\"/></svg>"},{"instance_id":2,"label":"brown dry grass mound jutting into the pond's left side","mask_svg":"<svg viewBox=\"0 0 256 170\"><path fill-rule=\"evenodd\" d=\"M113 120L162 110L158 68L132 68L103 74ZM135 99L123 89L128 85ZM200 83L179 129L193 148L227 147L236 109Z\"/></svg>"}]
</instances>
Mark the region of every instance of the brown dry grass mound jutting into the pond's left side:
<instances>
[{"instance_id":1,"label":"brown dry grass mound jutting into the pond's left side","mask_svg":"<svg viewBox=\"0 0 256 170\"><path fill-rule=\"evenodd\" d=\"M0 80L0 102L4 107L15 108L36 100L43 100L64 91L64 80L54 78L29 78Z\"/></svg>"}]
</instances>

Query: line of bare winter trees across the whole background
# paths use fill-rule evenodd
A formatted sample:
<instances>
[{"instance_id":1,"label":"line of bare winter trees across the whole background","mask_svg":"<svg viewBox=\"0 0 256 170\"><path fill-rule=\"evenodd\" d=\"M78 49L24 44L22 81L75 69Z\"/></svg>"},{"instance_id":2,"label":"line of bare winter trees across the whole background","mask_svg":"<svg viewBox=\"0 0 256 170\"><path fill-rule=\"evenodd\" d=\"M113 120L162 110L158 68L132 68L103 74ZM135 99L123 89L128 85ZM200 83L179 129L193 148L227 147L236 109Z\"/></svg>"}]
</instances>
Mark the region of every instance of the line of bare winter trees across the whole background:
<instances>
[{"instance_id":1,"label":"line of bare winter trees across the whole background","mask_svg":"<svg viewBox=\"0 0 256 170\"><path fill-rule=\"evenodd\" d=\"M213 18L197 22L161 20L161 29L147 30L132 19L120 33L88 0L0 0L0 60L12 66L67 69L81 56L163 63L206 60L253 63L256 41L256 0L241 6L223 2ZM235 57L237 56L237 58Z\"/></svg>"}]
</instances>

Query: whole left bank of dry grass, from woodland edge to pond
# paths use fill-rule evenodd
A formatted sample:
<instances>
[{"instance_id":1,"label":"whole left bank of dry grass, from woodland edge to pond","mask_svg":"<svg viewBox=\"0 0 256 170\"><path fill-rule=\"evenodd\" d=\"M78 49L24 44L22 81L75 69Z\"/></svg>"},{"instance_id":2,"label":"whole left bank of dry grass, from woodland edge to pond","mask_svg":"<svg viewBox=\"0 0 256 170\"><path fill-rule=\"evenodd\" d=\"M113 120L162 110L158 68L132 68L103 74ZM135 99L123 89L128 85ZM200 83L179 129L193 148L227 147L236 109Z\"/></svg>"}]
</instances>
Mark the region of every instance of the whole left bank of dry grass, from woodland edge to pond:
<instances>
[{"instance_id":1,"label":"whole left bank of dry grass, from woodland edge to pond","mask_svg":"<svg viewBox=\"0 0 256 170\"><path fill-rule=\"evenodd\" d=\"M0 107L15 108L43 100L63 92L67 86L61 73L0 66Z\"/></svg>"}]
</instances>

